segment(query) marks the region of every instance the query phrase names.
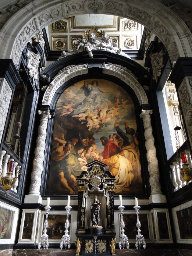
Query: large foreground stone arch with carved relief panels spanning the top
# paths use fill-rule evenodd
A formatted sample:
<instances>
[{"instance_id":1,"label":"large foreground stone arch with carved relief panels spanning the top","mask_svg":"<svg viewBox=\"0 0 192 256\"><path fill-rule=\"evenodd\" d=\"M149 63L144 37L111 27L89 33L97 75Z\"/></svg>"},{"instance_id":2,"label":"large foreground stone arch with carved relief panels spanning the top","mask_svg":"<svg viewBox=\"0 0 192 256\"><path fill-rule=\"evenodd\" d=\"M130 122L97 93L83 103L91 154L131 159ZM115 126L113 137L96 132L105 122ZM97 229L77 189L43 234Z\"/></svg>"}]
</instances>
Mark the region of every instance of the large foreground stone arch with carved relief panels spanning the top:
<instances>
[{"instance_id":1,"label":"large foreground stone arch with carved relief panels spanning the top","mask_svg":"<svg viewBox=\"0 0 192 256\"><path fill-rule=\"evenodd\" d=\"M17 10L2 27L0 45L4 51L0 58L12 58L17 65L25 45L37 31L62 18L85 13L118 14L143 24L163 42L172 61L192 55L187 25L156 0L34 0Z\"/></svg>"}]
</instances>

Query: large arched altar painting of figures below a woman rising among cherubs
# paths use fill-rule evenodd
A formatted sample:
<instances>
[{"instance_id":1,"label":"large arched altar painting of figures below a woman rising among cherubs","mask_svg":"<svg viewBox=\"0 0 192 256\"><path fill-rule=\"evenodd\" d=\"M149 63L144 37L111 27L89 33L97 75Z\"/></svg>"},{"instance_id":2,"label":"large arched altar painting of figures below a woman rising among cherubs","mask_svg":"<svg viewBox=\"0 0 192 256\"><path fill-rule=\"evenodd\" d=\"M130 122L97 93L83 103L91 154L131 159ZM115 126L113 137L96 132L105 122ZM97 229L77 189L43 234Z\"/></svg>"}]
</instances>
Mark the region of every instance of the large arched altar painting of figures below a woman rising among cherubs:
<instances>
[{"instance_id":1,"label":"large arched altar painting of figures below a woman rising among cherubs","mask_svg":"<svg viewBox=\"0 0 192 256\"><path fill-rule=\"evenodd\" d=\"M78 194L76 177L95 159L115 176L115 193L142 194L135 107L104 79L76 82L57 101L48 194Z\"/></svg>"}]
</instances>

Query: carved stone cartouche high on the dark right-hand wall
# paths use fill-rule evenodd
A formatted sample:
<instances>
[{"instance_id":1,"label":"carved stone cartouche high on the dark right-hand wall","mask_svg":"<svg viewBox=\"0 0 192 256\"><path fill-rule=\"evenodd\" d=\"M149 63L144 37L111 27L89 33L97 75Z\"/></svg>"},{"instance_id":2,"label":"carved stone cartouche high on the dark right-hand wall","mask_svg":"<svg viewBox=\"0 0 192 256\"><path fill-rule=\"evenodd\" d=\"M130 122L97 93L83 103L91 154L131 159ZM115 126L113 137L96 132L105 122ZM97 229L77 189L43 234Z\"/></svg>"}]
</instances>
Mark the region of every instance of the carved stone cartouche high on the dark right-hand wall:
<instances>
[{"instance_id":1,"label":"carved stone cartouche high on the dark right-hand wall","mask_svg":"<svg viewBox=\"0 0 192 256\"><path fill-rule=\"evenodd\" d=\"M161 75L163 65L163 51L150 54L151 65L153 69L153 80L157 83L158 77Z\"/></svg>"}]
</instances>

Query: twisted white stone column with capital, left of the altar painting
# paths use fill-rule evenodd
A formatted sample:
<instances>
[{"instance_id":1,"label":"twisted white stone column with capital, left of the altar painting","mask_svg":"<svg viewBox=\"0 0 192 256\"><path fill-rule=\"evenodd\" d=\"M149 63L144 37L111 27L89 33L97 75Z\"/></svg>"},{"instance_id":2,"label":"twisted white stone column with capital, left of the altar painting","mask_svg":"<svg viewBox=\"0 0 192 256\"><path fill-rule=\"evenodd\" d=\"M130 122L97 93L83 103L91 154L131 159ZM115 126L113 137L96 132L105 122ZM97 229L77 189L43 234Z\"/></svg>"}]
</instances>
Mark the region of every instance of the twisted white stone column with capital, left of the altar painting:
<instances>
[{"instance_id":1,"label":"twisted white stone column with capital, left of the altar painting","mask_svg":"<svg viewBox=\"0 0 192 256\"><path fill-rule=\"evenodd\" d=\"M38 136L37 136L37 145L35 148L35 157L33 160L33 169L31 172L31 184L29 188L30 195L40 195L40 187L41 187L41 174L43 171L43 161L44 161L44 150L45 150L45 139L47 136L47 123L48 119L51 118L49 111L41 111L39 110L40 117L40 125L38 128Z\"/></svg>"}]
</instances>

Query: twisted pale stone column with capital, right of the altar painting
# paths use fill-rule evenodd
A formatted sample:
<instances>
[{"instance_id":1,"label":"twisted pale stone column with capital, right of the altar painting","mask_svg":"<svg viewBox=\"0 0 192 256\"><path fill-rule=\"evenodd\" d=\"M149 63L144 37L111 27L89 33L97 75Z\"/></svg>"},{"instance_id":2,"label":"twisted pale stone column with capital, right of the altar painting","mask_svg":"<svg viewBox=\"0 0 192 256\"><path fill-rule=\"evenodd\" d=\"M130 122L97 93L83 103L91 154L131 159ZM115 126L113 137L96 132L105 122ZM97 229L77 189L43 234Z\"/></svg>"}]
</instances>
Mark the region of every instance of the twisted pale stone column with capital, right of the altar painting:
<instances>
[{"instance_id":1,"label":"twisted pale stone column with capital, right of the altar painting","mask_svg":"<svg viewBox=\"0 0 192 256\"><path fill-rule=\"evenodd\" d=\"M143 119L144 135L145 135L145 147L147 149L147 161L149 171L149 183L151 186L151 195L162 194L161 185L159 183L159 168L158 160L156 157L156 148L154 145L154 137L151 126L151 114L152 110L142 110L140 118Z\"/></svg>"}]
</instances>

